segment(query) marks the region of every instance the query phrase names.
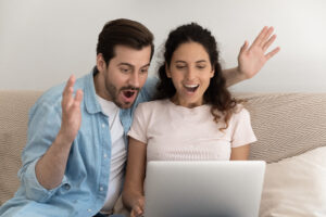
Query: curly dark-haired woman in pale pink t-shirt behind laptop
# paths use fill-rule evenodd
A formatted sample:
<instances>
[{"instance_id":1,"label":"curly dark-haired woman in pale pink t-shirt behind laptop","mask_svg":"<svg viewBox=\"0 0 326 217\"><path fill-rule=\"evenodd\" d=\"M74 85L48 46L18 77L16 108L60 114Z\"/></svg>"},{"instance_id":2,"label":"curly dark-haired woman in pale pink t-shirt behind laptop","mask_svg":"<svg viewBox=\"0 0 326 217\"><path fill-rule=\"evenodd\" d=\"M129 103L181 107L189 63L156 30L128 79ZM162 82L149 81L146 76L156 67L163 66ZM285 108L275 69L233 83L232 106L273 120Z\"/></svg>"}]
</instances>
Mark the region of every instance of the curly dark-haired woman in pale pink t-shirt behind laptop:
<instances>
[{"instance_id":1,"label":"curly dark-haired woman in pale pink t-shirt behind laptop","mask_svg":"<svg viewBox=\"0 0 326 217\"><path fill-rule=\"evenodd\" d=\"M212 34L191 23L171 31L156 100L139 104L128 133L124 204L143 212L148 161L247 159L250 115L228 92Z\"/></svg>"}]
</instances>

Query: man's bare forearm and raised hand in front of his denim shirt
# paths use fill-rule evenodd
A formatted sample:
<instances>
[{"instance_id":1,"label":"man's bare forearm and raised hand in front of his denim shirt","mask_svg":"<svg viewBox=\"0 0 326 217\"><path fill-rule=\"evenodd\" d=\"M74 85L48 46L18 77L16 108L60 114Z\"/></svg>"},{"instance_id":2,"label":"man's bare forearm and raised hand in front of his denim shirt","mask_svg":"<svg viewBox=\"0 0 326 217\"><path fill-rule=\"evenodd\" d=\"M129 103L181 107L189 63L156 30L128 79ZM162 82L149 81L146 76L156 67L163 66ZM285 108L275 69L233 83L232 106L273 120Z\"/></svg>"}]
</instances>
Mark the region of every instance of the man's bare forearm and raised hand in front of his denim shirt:
<instances>
[{"instance_id":1,"label":"man's bare forearm and raised hand in front of his denim shirt","mask_svg":"<svg viewBox=\"0 0 326 217\"><path fill-rule=\"evenodd\" d=\"M77 90L73 97L75 77L71 76L62 94L61 129L45 155L36 164L36 177L46 189L51 190L62 182L68 153L76 138L80 123L80 102L83 91Z\"/></svg>"}]
</instances>

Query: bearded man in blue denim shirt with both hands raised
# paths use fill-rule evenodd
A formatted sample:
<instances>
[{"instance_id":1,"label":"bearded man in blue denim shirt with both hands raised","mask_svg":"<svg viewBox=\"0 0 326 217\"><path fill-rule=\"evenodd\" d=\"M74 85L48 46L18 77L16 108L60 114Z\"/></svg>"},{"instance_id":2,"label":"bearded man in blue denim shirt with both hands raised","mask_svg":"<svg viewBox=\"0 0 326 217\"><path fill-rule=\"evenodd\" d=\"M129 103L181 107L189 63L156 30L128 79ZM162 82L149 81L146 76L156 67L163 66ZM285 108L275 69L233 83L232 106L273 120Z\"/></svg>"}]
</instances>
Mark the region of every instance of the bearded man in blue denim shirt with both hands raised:
<instances>
[{"instance_id":1,"label":"bearded man in blue denim shirt with both hands raised","mask_svg":"<svg viewBox=\"0 0 326 217\"><path fill-rule=\"evenodd\" d=\"M272 31L265 27L250 48L244 42L239 66L224 72L228 85L254 76L278 52L264 54L275 40ZM129 20L105 24L93 71L77 80L71 76L32 107L21 187L0 208L1 216L112 214L134 110L154 93L155 79L147 79L153 52L153 36L143 25Z\"/></svg>"}]
</instances>

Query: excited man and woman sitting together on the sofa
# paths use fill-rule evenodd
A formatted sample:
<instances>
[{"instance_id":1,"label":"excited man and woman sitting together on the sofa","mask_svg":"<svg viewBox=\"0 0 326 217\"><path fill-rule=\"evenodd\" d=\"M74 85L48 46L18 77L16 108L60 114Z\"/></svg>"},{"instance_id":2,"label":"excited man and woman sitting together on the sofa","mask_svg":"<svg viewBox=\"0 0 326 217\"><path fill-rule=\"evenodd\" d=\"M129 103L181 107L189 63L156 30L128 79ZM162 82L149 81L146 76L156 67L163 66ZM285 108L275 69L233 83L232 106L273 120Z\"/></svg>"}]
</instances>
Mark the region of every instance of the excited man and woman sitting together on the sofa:
<instances>
[{"instance_id":1,"label":"excited man and woman sitting together on the sofa","mask_svg":"<svg viewBox=\"0 0 326 217\"><path fill-rule=\"evenodd\" d=\"M181 25L167 37L158 80L148 78L148 28L106 23L91 73L71 76L32 107L21 187L0 216L117 216L121 192L130 216L141 216L147 162L247 159L256 139L227 87L278 52L265 54L272 33L264 27L250 47L246 41L238 67L223 71L211 31Z\"/></svg>"}]
</instances>

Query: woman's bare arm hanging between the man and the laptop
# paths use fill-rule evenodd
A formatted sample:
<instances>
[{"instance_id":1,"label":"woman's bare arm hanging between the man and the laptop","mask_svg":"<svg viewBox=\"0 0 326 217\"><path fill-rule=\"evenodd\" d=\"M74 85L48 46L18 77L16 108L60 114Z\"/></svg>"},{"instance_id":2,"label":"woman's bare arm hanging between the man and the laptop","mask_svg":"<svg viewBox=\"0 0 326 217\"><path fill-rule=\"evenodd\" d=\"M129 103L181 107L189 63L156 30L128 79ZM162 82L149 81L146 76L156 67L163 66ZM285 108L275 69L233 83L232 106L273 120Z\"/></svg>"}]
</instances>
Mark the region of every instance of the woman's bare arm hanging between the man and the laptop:
<instances>
[{"instance_id":1,"label":"woman's bare arm hanging between the man and the laptop","mask_svg":"<svg viewBox=\"0 0 326 217\"><path fill-rule=\"evenodd\" d=\"M143 180L146 174L147 144L129 137L126 179L123 190L123 203L130 209L130 217L143 213Z\"/></svg>"}]
</instances>

